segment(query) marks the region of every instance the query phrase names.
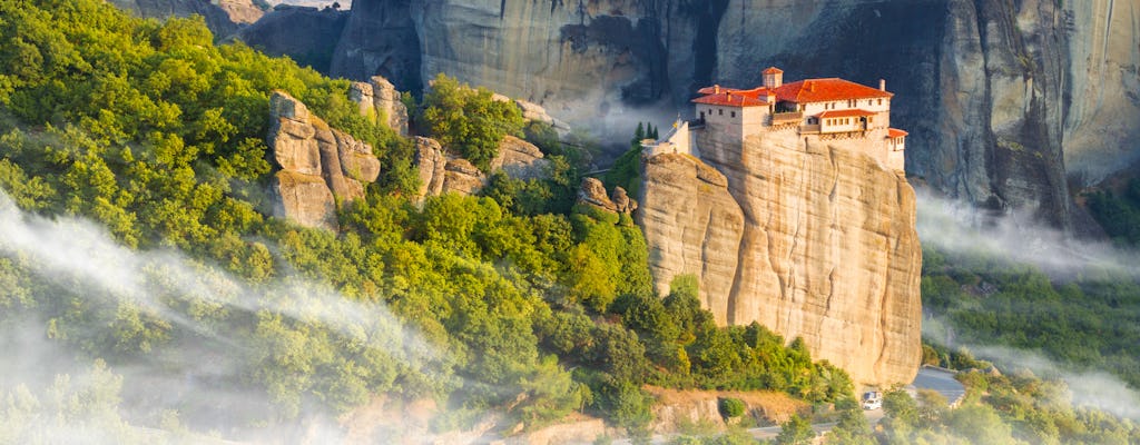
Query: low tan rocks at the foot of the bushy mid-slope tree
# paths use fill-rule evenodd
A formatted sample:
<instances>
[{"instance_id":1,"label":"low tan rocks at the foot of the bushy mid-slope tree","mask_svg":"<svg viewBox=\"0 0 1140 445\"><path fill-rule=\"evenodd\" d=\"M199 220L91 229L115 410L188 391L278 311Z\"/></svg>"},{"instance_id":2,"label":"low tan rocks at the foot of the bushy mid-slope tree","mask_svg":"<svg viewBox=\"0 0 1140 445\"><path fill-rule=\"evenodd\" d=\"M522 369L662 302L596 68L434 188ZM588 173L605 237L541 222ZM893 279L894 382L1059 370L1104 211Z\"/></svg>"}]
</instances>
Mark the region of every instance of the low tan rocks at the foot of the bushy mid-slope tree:
<instances>
[{"instance_id":1,"label":"low tan rocks at the foot of the bushy mid-slope tree","mask_svg":"<svg viewBox=\"0 0 1140 445\"><path fill-rule=\"evenodd\" d=\"M434 139L416 137L414 160L420 172L420 199L447 192L474 195L487 186L487 174ZM490 162L492 172L502 171L515 179L545 178L547 165L538 147L513 135L503 138L498 155Z\"/></svg>"}]
</instances>

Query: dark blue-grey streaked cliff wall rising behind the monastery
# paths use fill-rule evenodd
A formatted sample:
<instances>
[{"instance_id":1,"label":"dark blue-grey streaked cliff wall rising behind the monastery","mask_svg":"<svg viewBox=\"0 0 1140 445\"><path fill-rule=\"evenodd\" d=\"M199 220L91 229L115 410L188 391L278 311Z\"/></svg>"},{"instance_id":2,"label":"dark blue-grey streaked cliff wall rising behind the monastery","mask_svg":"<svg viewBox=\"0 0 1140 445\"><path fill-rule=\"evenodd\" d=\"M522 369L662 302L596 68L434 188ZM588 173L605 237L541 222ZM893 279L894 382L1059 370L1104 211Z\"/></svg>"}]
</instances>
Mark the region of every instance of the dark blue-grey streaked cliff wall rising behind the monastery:
<instances>
[{"instance_id":1,"label":"dark blue-grey streaked cliff wall rising behind the monastery","mask_svg":"<svg viewBox=\"0 0 1140 445\"><path fill-rule=\"evenodd\" d=\"M357 0L332 72L417 90L438 72L596 126L687 113L698 86L881 79L907 172L1070 222L1069 180L1140 157L1140 0ZM628 131L628 130L625 130Z\"/></svg>"}]
</instances>

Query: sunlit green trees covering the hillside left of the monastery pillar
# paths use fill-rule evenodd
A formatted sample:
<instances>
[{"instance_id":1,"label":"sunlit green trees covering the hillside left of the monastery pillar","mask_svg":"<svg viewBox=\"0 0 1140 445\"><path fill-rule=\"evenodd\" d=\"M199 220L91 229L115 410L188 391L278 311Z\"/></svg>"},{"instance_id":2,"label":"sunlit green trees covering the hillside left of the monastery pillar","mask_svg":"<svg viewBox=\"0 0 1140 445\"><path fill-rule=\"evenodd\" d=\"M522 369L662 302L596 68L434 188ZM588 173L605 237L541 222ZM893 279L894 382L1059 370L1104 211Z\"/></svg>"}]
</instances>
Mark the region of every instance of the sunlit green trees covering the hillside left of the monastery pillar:
<instances>
[{"instance_id":1,"label":"sunlit green trees covering the hillside left of the monastery pillar","mask_svg":"<svg viewBox=\"0 0 1140 445\"><path fill-rule=\"evenodd\" d=\"M377 395L438 401L447 412L435 422L441 430L490 411L504 413L504 429L572 411L637 429L650 419L652 399L641 389L649 382L777 389L809 402L852 396L846 374L813 363L801 343L785 346L757 324L717 328L691 278L654 295L644 238L628 215L534 205L536 197L572 199L578 175L567 160L554 163L561 170L549 180L500 178L488 196L416 206L410 143L359 116L347 81L241 43L214 46L201 18L141 20L99 0L6 1L0 39L8 42L0 48L0 189L25 212L105 228L139 254L138 269L90 266L113 277L144 271L133 279L145 289L124 296L49 273L0 241L0 325L31 323L101 382L96 396L66 384L50 390L76 394L73 407L27 387L0 388L26 402L6 409L6 419L26 421L0 422L0 438L26 442L36 437L35 419L70 425L97 412L108 417L92 421L121 426L113 418L120 389L130 422L203 431L343 413ZM275 89L381 158L381 179L342 209L339 233L267 216ZM477 123L503 117L513 124L492 126L521 131L510 107L463 108L463 97L446 93L426 101L427 127L445 134L441 125L463 125L448 142L479 163L487 156L480 138L497 135L471 134ZM206 290L172 278L179 267L196 271ZM348 328L341 318L304 315L340 307L326 294L358 314L390 311L423 344L372 331L373 320L359 315ZM203 357L226 371L199 368ZM152 371L188 386L239 392L253 406L223 406L219 415L217 401L158 397L140 385L145 376L114 374L140 363L161 363ZM262 399L268 405L255 403Z\"/></svg>"}]
</instances>

